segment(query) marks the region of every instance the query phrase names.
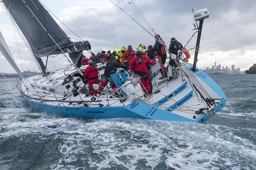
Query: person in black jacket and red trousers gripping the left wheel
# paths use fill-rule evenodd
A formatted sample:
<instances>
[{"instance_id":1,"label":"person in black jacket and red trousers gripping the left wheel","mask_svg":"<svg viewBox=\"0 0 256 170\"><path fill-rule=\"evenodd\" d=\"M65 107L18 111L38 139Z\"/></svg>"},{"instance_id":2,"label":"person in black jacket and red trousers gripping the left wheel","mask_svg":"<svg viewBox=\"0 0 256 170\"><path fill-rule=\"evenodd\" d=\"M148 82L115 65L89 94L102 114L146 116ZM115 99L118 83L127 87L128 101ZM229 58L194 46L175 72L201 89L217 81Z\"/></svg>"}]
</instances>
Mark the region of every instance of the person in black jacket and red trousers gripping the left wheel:
<instances>
[{"instance_id":1,"label":"person in black jacket and red trousers gripping the left wheel","mask_svg":"<svg viewBox=\"0 0 256 170\"><path fill-rule=\"evenodd\" d=\"M121 67L121 68L126 69L126 67L124 65L116 62L116 56L111 55L109 59L110 60L106 63L106 68L104 70L104 74L101 79L100 90L104 89L104 87L108 84L108 81L109 81L112 89L116 89L116 84L113 81L109 80L109 78L110 78L109 73L111 70L113 70L116 67ZM107 80L107 76L109 76L108 80ZM117 95L117 92L115 92L115 94ZM98 91L97 97L100 97L100 91Z\"/></svg>"}]
</instances>

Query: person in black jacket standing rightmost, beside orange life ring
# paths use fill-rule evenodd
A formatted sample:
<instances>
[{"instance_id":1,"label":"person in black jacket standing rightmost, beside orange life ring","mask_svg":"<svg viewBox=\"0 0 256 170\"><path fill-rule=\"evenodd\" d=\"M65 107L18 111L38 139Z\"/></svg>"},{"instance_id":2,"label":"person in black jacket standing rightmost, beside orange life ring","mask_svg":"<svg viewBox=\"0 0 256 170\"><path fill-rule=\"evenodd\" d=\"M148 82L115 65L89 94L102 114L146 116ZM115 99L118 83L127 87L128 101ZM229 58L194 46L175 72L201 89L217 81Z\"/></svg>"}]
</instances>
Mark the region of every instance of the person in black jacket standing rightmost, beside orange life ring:
<instances>
[{"instance_id":1,"label":"person in black jacket standing rightmost, beside orange life ring","mask_svg":"<svg viewBox=\"0 0 256 170\"><path fill-rule=\"evenodd\" d=\"M172 81L172 71L177 69L177 56L178 56L178 50L182 49L183 46L180 42L178 42L174 37L171 38L171 44L169 46L169 52L171 54L170 60L168 63L168 71L167 71L167 76L169 77L168 81ZM176 62L175 62L176 60Z\"/></svg>"}]
</instances>

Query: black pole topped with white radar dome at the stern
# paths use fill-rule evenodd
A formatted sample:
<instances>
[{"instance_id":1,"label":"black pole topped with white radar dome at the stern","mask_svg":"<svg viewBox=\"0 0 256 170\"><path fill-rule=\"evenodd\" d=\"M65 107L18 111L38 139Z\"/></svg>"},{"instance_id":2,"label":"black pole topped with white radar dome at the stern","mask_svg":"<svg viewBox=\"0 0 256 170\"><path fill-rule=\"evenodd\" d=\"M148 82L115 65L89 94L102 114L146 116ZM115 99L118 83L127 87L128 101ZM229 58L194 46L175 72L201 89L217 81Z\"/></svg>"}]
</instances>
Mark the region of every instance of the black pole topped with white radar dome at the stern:
<instances>
[{"instance_id":1,"label":"black pole topped with white radar dome at the stern","mask_svg":"<svg viewBox=\"0 0 256 170\"><path fill-rule=\"evenodd\" d=\"M201 40L203 22L204 22L204 19L209 18L209 15L210 15L210 13L207 10L207 8L194 12L195 21L199 21L197 40L196 40L196 50L195 50L193 68L192 68L192 71L194 71L194 72L196 72L196 62L197 62L197 56L198 56L198 52L199 52L199 48L200 48L199 45L200 45L200 40Z\"/></svg>"}]
</instances>

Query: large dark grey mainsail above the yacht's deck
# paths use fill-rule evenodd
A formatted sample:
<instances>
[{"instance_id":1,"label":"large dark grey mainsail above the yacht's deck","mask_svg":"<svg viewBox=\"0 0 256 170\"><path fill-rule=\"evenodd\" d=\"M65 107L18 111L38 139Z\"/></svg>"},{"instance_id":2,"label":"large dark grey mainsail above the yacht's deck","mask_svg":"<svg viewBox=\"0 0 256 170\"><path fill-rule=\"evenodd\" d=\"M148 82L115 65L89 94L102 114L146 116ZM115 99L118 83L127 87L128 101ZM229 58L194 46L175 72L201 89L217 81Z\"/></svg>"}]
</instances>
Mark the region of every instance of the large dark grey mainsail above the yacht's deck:
<instances>
[{"instance_id":1,"label":"large dark grey mainsail above the yacht's deck","mask_svg":"<svg viewBox=\"0 0 256 170\"><path fill-rule=\"evenodd\" d=\"M72 42L38 0L3 0L36 57L69 53L72 62L81 66L88 41ZM61 50L60 50L61 48Z\"/></svg>"}]
</instances>

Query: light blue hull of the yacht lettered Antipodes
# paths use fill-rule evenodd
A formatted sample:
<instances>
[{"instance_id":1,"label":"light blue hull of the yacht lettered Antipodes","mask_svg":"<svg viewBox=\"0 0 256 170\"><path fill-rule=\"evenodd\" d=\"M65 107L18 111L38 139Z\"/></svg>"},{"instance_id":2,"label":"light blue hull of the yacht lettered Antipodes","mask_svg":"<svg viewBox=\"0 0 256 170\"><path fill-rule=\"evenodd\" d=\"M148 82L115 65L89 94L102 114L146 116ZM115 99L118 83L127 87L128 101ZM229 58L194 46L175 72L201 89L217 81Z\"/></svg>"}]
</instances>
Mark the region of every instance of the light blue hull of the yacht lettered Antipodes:
<instances>
[{"instance_id":1,"label":"light blue hull of the yacht lettered Antipodes","mask_svg":"<svg viewBox=\"0 0 256 170\"><path fill-rule=\"evenodd\" d=\"M192 64L188 66L188 69L192 67ZM199 69L198 69L199 70ZM214 106L216 113L224 107L227 100L224 92L220 87L203 71L199 70L194 73L199 77L205 84L207 84L214 92L216 92L223 100L218 103L218 109ZM193 91L192 91L193 94ZM165 100L166 97L160 99ZM213 115L209 117L206 115L199 116L198 118L192 120L177 114L172 113L170 110L160 109L158 107L149 107L140 105L138 103L143 103L143 101L136 100L134 103L130 103L126 106L103 106L103 107L78 107L78 106L56 106L44 103L35 102L28 98L25 98L28 104L35 110L41 112L47 112L50 114L58 114L63 116L78 116L87 118L139 118L139 119L153 119L153 120L164 120L164 121L178 121L178 122L198 122L204 123L210 119ZM159 101L160 101L159 100Z\"/></svg>"}]
</instances>

